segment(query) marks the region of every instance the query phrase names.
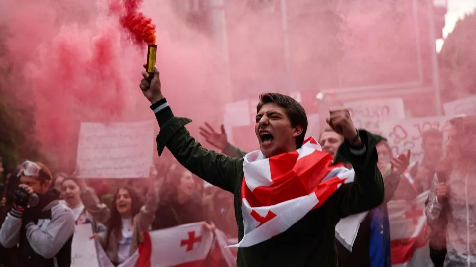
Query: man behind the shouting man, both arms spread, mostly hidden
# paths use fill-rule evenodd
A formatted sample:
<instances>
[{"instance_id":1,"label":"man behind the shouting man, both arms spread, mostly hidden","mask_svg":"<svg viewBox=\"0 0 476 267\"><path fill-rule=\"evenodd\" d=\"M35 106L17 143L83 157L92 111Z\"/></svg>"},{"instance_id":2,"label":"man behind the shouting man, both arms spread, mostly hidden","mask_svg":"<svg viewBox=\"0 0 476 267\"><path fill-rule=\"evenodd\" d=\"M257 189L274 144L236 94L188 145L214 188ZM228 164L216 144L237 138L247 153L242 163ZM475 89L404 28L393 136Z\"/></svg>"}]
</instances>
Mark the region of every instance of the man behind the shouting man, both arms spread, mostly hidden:
<instances>
[{"instance_id":1,"label":"man behind the shouting man, both arms spread, mostly hidden","mask_svg":"<svg viewBox=\"0 0 476 267\"><path fill-rule=\"evenodd\" d=\"M221 133L219 133L215 131L210 124L205 123L204 126L200 127L200 135L202 135L209 144L218 148L227 156L240 158L247 154L228 142L223 125L221 127ZM385 186L384 203L370 210L363 218L358 228L352 250L348 248L350 245L347 244L344 246L340 240L336 240L337 266L339 267L386 267L391 265L390 232L386 203L393 197L400 182L400 177L408 167L409 155L399 155L392 159L392 151L387 141L381 136L376 135L375 137L380 138L376 146L379 156L377 166L383 174L383 183ZM319 144L322 147L322 151L329 153L333 157L336 157L339 146L343 142L343 137L334 132L330 127L325 128L319 137ZM336 236L338 236L337 231Z\"/></svg>"}]
</instances>

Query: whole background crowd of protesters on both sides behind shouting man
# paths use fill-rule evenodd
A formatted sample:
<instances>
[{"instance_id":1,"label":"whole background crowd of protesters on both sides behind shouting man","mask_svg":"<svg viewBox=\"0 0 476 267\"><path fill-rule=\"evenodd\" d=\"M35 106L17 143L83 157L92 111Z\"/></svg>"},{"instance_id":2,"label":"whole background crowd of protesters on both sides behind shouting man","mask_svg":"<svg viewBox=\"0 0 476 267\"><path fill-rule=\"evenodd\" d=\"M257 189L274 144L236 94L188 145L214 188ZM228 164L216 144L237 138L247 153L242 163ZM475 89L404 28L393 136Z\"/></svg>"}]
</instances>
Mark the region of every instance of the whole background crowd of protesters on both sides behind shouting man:
<instances>
[{"instance_id":1,"label":"whole background crowd of protesters on both sides behind shouting man","mask_svg":"<svg viewBox=\"0 0 476 267\"><path fill-rule=\"evenodd\" d=\"M231 158L246 155L228 142L223 127L216 132L206 124L200 133ZM425 210L429 257L434 266L476 266L474 133L476 119L471 116L451 120L446 142L439 130L422 133L420 162L412 162L411 151L392 155L385 136L372 135L385 194L379 205L363 214L352 251L336 236L338 266L391 266L387 203L412 201L425 191L429 192ZM346 141L335 128L324 129L318 142L335 161L353 167L339 159ZM0 164L4 177L0 266L69 266L74 227L85 223L92 225L91 239L99 241L115 265L129 258L143 242L142 233L150 230L205 222L208 230L217 227L229 238L238 237L232 194L205 186L178 162L162 170L151 167L148 178L104 180L79 178L80 166L74 173L53 175L41 162L25 160L11 170Z\"/></svg>"}]
</instances>

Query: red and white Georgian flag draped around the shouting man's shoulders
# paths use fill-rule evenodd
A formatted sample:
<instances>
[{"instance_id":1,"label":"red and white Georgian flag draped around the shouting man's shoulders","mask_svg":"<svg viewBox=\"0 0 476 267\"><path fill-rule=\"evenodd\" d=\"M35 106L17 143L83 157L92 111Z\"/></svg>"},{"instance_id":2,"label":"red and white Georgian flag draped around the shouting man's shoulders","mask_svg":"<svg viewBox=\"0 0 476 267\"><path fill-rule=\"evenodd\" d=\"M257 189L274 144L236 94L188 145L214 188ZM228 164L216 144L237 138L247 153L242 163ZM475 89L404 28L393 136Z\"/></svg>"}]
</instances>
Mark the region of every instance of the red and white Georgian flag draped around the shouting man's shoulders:
<instances>
[{"instance_id":1,"label":"red and white Georgian flag draped around the shouting man's shoulders","mask_svg":"<svg viewBox=\"0 0 476 267\"><path fill-rule=\"evenodd\" d=\"M249 247L286 231L342 184L354 181L354 170L333 164L313 137L293 152L270 158L250 152L243 171L244 236L232 247Z\"/></svg>"}]
</instances>

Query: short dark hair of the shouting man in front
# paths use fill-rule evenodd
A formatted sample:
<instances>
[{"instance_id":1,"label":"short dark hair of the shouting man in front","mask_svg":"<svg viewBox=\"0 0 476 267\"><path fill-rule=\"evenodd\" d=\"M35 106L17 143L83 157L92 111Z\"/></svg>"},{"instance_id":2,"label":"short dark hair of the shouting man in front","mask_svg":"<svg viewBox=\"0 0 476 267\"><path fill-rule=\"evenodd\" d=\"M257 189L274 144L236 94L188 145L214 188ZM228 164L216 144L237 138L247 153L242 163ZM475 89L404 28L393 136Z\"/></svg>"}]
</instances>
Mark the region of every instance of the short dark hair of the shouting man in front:
<instances>
[{"instance_id":1,"label":"short dark hair of the shouting man in front","mask_svg":"<svg viewBox=\"0 0 476 267\"><path fill-rule=\"evenodd\" d=\"M300 125L304 128L302 133L296 138L296 149L300 148L304 142L304 136L307 131L307 115L304 108L290 96L280 93L263 93L259 96L256 112L259 112L263 105L268 103L275 103L284 108L292 127Z\"/></svg>"}]
</instances>

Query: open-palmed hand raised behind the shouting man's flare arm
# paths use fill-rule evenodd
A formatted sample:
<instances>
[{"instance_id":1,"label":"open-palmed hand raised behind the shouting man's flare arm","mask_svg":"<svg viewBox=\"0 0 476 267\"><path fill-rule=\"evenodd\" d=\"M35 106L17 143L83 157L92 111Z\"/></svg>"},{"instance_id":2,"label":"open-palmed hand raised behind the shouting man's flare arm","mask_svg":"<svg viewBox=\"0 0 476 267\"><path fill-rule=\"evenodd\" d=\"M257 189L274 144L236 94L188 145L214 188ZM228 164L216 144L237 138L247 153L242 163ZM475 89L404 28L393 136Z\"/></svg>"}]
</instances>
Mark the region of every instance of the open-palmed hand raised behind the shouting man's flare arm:
<instances>
[{"instance_id":1,"label":"open-palmed hand raised behind the shouting man's flare arm","mask_svg":"<svg viewBox=\"0 0 476 267\"><path fill-rule=\"evenodd\" d=\"M247 154L228 142L227 133L225 132L223 124L220 126L220 133L216 132L207 122L205 122L205 126L200 126L199 128L200 135L205 138L205 141L222 151L222 154L232 158L242 158Z\"/></svg>"}]
</instances>

